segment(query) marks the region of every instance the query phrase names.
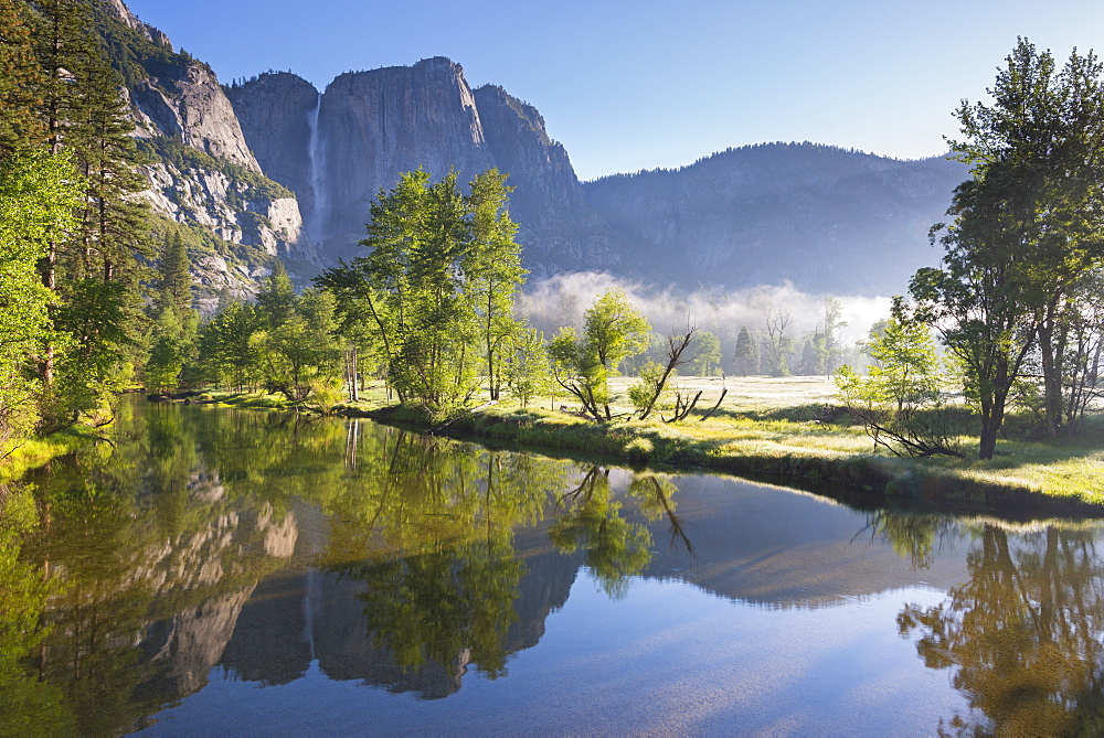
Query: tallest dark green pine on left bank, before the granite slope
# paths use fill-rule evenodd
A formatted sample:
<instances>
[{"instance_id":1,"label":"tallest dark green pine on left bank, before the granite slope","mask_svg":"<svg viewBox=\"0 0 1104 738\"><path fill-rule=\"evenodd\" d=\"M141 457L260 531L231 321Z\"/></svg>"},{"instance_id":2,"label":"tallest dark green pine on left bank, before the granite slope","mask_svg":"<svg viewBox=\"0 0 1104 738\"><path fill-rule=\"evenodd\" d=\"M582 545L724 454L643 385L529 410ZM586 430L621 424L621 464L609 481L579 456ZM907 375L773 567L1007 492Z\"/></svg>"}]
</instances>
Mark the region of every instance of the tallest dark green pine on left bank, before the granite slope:
<instances>
[{"instance_id":1,"label":"tallest dark green pine on left bank, before the granite slope","mask_svg":"<svg viewBox=\"0 0 1104 738\"><path fill-rule=\"evenodd\" d=\"M47 143L75 154L84 182L77 228L52 242L40 261L42 284L55 296L54 327L67 336L64 352L53 343L44 352L53 429L109 402L128 379L139 346L147 279L141 265L149 252L146 206L135 196L146 185L137 172L134 124L119 77L92 33L91 6L42 0L36 7Z\"/></svg>"}]
</instances>

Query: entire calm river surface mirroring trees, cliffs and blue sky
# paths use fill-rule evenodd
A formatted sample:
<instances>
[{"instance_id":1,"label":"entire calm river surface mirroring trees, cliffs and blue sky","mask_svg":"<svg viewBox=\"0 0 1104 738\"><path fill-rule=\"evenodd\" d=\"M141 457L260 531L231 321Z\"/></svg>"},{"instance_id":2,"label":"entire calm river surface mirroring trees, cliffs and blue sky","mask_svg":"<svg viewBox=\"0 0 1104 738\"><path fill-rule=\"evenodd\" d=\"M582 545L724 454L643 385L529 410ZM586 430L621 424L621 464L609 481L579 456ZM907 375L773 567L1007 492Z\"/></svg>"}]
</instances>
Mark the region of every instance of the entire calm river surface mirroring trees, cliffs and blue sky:
<instances>
[{"instance_id":1,"label":"entire calm river surface mirroring trees, cliffs and blue sky","mask_svg":"<svg viewBox=\"0 0 1104 738\"><path fill-rule=\"evenodd\" d=\"M125 406L6 495L0 734L1096 732L1096 522Z\"/></svg>"}]
</instances>

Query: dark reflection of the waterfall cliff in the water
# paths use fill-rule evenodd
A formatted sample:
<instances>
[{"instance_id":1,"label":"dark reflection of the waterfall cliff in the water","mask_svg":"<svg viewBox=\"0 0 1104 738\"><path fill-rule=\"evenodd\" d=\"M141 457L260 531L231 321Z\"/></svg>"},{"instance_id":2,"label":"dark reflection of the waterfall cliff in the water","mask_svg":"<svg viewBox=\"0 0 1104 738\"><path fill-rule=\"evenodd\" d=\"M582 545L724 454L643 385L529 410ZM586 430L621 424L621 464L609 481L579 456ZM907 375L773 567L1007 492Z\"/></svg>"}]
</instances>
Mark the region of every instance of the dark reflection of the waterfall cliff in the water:
<instances>
[{"instance_id":1,"label":"dark reflection of the waterfall cliff in the water","mask_svg":"<svg viewBox=\"0 0 1104 738\"><path fill-rule=\"evenodd\" d=\"M544 619L567 599L578 568L577 560L552 550L544 530L529 530L522 537L517 546L517 556L522 561L521 577L517 587L507 592L512 613L499 621L509 621L501 631L484 629L481 637L478 622L475 625L465 622L467 630L450 631L443 624L448 632L437 632L438 637L468 639L450 641L457 646L454 651L435 651L433 644L415 642L416 635L412 635L415 641L406 642L395 633L381 635L372 623L388 622L389 613L379 610L386 607L386 601L367 597L370 585L353 573L368 570L379 575L376 567L393 566L393 563L357 565L344 571L307 570L269 579L256 588L242 609L220 664L242 680L283 684L307 672L314 648L318 667L329 678L358 681L392 692L413 692L423 699L446 697L460 688L461 677L476 665L474 662L480 652L501 652L509 657L535 645L544 633ZM424 567L418 569L420 576L424 574ZM424 584L407 580L404 586ZM317 595L311 598L310 606L305 607L311 588L317 589ZM480 592L473 595L482 597ZM373 605L376 610L371 609ZM308 625L308 617L312 627ZM421 617L442 624L440 619L447 616L427 610ZM432 635L426 638L432 639ZM499 640L488 645L487 638ZM404 666L413 651L429 655L418 665ZM445 652L450 655L436 655ZM488 664L478 666L491 671Z\"/></svg>"}]
</instances>

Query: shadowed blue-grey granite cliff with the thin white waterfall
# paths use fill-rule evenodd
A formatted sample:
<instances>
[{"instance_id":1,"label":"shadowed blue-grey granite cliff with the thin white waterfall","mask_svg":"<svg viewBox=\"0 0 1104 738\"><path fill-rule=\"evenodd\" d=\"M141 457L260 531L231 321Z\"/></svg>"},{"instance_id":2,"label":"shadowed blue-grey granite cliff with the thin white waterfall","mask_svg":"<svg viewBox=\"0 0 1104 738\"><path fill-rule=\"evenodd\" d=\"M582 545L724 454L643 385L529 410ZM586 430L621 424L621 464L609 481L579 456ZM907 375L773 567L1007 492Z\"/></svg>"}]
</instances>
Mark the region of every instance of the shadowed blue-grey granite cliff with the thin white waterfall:
<instances>
[{"instance_id":1,"label":"shadowed blue-grey granite cliff with the thin white waterfall","mask_svg":"<svg viewBox=\"0 0 1104 738\"><path fill-rule=\"evenodd\" d=\"M495 167L516 188L510 210L529 268L617 266L615 237L587 207L566 151L535 108L501 87L473 92L460 65L435 57L342 74L319 103L314 94L287 73L229 89L246 141L298 195L325 261L360 255L369 204L401 173L456 169L466 182Z\"/></svg>"}]
</instances>

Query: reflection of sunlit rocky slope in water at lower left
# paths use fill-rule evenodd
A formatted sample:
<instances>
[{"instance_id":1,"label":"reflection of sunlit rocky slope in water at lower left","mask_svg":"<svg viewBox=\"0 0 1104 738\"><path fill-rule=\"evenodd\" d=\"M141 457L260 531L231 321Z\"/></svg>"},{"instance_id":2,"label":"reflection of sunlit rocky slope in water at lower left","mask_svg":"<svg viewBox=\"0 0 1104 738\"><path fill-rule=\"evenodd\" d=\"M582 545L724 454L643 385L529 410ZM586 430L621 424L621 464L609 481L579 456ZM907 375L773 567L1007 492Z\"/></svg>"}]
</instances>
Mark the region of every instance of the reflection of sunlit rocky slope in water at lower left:
<instances>
[{"instance_id":1,"label":"reflection of sunlit rocky slope in water at lower left","mask_svg":"<svg viewBox=\"0 0 1104 738\"><path fill-rule=\"evenodd\" d=\"M148 511L118 498L105 496L99 510L53 506L56 537L41 555L70 586L44 613L51 633L35 666L66 693L81 734L139 728L160 705L206 684L257 580L295 546L293 513L214 502L214 477L191 478L168 538L144 525ZM92 555L89 539L99 544Z\"/></svg>"}]
</instances>

